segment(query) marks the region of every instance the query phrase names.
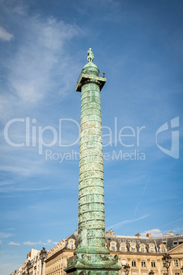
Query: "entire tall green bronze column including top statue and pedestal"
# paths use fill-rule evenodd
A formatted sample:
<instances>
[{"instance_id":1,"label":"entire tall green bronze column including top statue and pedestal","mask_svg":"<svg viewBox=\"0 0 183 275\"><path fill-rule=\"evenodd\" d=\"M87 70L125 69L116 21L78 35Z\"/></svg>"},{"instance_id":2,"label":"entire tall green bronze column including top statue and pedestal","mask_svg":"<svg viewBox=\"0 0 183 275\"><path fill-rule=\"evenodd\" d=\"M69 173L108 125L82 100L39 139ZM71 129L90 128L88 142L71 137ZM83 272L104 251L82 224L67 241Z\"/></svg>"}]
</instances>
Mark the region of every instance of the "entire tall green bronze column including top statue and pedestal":
<instances>
[{"instance_id":1,"label":"entire tall green bronze column including top statue and pedestal","mask_svg":"<svg viewBox=\"0 0 183 275\"><path fill-rule=\"evenodd\" d=\"M92 49L81 71L76 91L81 92L79 160L78 248L68 260L68 274L119 274L117 255L105 248L104 176L100 91L106 78L99 77Z\"/></svg>"}]
</instances>

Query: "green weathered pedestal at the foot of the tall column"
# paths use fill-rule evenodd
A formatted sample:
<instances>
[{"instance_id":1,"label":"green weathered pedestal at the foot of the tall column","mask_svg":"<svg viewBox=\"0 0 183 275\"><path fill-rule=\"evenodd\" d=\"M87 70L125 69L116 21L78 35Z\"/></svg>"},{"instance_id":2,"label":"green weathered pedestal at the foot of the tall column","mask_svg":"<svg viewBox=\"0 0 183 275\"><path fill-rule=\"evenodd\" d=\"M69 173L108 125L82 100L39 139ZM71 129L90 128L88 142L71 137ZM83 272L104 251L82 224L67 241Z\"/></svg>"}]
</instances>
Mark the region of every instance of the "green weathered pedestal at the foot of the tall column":
<instances>
[{"instance_id":1,"label":"green weathered pedestal at the foot of the tall column","mask_svg":"<svg viewBox=\"0 0 183 275\"><path fill-rule=\"evenodd\" d=\"M67 261L65 272L70 275L118 275L122 268L118 255L77 253Z\"/></svg>"}]
</instances>

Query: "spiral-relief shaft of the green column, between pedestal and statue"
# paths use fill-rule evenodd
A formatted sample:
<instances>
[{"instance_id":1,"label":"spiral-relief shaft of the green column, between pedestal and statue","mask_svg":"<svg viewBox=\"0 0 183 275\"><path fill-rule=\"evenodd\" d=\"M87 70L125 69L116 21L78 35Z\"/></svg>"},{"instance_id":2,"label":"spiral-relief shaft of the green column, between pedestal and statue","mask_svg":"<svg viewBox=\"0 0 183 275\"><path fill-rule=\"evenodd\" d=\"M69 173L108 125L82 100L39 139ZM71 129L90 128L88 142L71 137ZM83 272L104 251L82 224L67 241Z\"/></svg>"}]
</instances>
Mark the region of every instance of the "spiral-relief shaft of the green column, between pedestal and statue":
<instances>
[{"instance_id":1,"label":"spiral-relief shaft of the green column, between pedestal and statue","mask_svg":"<svg viewBox=\"0 0 183 275\"><path fill-rule=\"evenodd\" d=\"M104 235L104 176L99 70L89 62L81 83L79 161L79 247L77 252L109 254ZM91 78L92 77L92 78ZM96 79L97 78L97 79Z\"/></svg>"}]
</instances>

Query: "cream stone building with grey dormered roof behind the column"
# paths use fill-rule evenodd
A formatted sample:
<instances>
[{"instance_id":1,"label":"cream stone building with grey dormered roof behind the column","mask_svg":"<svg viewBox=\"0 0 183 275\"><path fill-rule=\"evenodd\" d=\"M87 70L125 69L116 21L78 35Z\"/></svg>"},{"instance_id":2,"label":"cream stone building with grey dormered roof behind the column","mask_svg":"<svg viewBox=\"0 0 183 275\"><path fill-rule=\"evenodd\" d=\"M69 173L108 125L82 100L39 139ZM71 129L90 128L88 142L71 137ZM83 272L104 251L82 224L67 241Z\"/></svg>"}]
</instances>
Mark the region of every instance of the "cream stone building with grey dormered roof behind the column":
<instances>
[{"instance_id":1,"label":"cream stone building with grey dormered roof behind the column","mask_svg":"<svg viewBox=\"0 0 183 275\"><path fill-rule=\"evenodd\" d=\"M72 257L77 248L77 231L70 237L63 239L57 246L48 252L45 275L64 275L67 258ZM162 258L165 252L171 256L169 275L182 275L183 266L183 235L163 235L162 237L146 237L139 233L135 236L115 235L114 231L105 234L106 248L111 254L119 255L119 265L130 265L130 275L147 275L150 270L154 275L166 275ZM124 275L124 270L119 274Z\"/></svg>"}]
</instances>

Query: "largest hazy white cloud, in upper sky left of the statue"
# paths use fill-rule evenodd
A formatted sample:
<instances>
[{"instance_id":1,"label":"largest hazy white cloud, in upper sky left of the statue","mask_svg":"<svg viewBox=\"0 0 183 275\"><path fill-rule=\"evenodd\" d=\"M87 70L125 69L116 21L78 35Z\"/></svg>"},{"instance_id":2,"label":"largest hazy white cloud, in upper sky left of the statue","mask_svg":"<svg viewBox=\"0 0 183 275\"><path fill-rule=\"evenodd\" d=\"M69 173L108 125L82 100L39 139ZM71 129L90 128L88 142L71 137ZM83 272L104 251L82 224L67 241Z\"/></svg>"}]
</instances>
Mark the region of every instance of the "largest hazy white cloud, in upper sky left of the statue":
<instances>
[{"instance_id":1,"label":"largest hazy white cloud, in upper sky left of the statue","mask_svg":"<svg viewBox=\"0 0 183 275\"><path fill-rule=\"evenodd\" d=\"M23 44L10 64L9 83L20 101L36 104L53 90L53 79L68 66L64 43L79 29L53 17L43 21L35 16L27 22Z\"/></svg>"}]
</instances>

